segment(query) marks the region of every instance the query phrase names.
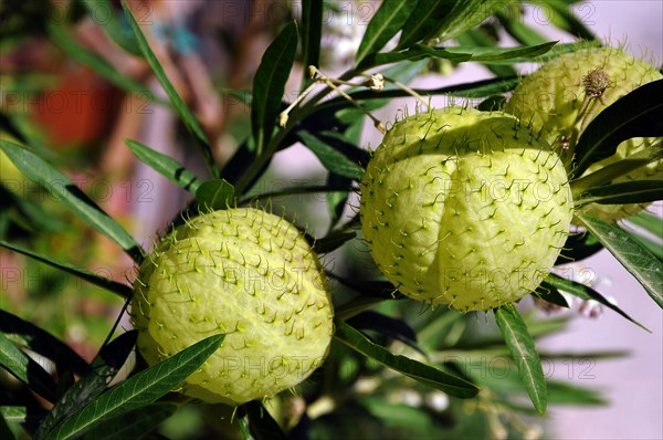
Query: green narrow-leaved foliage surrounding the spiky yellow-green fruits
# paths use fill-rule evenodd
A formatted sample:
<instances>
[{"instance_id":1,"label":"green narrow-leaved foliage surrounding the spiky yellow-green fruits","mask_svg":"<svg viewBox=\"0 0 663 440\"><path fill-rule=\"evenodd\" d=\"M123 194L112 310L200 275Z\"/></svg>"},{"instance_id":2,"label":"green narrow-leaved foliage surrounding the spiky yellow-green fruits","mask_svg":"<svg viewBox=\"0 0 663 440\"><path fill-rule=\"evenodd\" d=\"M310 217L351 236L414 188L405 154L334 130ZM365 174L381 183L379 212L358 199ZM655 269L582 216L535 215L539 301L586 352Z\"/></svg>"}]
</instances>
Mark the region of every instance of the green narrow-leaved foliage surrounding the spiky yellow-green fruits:
<instances>
[{"instance_id":1,"label":"green narrow-leaved foliage surrounding the spiky yellow-green fruits","mask_svg":"<svg viewBox=\"0 0 663 440\"><path fill-rule=\"evenodd\" d=\"M99 6L112 10L112 2L106 0L74 3L82 14L93 13ZM335 338L326 362L297 387L296 395L281 394L238 408L199 405L194 399L171 392L203 365L220 346L223 335L201 341L148 368L140 356L130 360L130 352L136 348L134 332L114 338L116 325L101 323L108 336L102 346L95 347L97 355L90 356L93 360L88 363L59 336L18 317L18 312L2 310L0 366L4 376L0 376L0 398L7 398L9 405L3 401L0 410L0 437L160 438L168 431L166 420L179 421L178 417L186 418L187 411L191 411L198 417L196 422L182 423L182 427L198 427L202 423L200 420L204 420L206 427L182 438L189 434L214 437L219 432L244 439L424 434L487 438L497 433L525 438L520 418L544 415L549 405L603 405L606 401L598 391L547 378L541 360L573 356L598 359L622 353L538 353L538 338L562 331L567 318L541 319L519 305L494 310L494 319L490 313L485 319L484 315L477 319L475 315L462 315L444 307L428 310L424 304L406 300L398 286L385 281L375 264L361 264L366 262L366 252L359 233L359 214L352 212L349 220L344 217L348 203L350 209L357 210L350 196L358 191L358 181L370 159L370 153L360 142L365 118L358 106L362 111L375 111L393 98L414 94L424 101L436 95L467 99L469 106L474 105L474 99L483 99L480 109L498 108L506 101L505 94L520 81L516 74L517 63L546 62L562 53L600 44L573 15L569 3L546 2L555 13L554 24L586 40L582 43L548 41L522 20L519 2L504 6L499 1L478 0L385 0L365 27L366 32L357 42L357 53L351 65L346 66L347 71L338 80L326 82L306 75L303 90L309 85L312 88L290 111L287 122L281 124L283 121L278 119L286 107L283 102L286 82L296 72L297 62L303 61L306 72L309 64L318 66L323 54L323 21L330 6L320 0L305 1L301 20L288 20L274 29L275 38L253 76L252 91L223 91L225 96L239 96L250 107L246 119L251 124L248 137L240 139L236 151L224 164L214 160L208 135L176 91L125 0L122 13L97 25L118 48L149 65L168 102L77 43L71 29L73 23L54 24L33 11L30 17L40 19L36 24L25 22L23 28L7 28L12 38L19 38L21 29L28 33L38 25L72 60L124 91L144 94L150 102L177 112L179 122L188 130L187 140L200 147L198 154L211 178L198 176L175 158L137 140L128 139L126 144L136 158L191 193L194 200L182 212L182 218L192 214L196 207L208 211L249 203L280 212L281 205L287 203L277 205L274 200L293 195L318 195L325 202L324 221L328 220L329 226L320 237L312 232L306 237L324 261L341 255L347 260L347 268L344 273L334 264L326 265L336 316ZM484 22L490 17L493 19ZM123 28L125 19L127 29ZM506 32L518 45L505 48L502 41L494 39L491 27L497 33ZM451 39L459 44L450 44ZM478 63L495 76L430 90L412 91L404 85L427 67L446 65L451 69L460 63ZM381 92L365 86L366 76L377 71L387 80ZM635 90L603 111L585 129L576 149L576 168L569 176L577 208L590 202L619 205L662 199L661 179L606 185L615 176L660 160L663 150L660 143L646 155L620 160L578 178L590 165L612 155L622 140L663 135L662 84L657 81ZM65 175L62 164L66 159L59 158L55 163L55 155L42 148L11 115L2 113L0 116L3 132L0 147L11 164L56 198L90 230L109 239L135 263L140 263L145 258L140 244ZM269 179L274 155L297 142L313 151L326 170L323 185L252 192L256 182ZM35 245L34 237L45 237L45 240L57 237L70 227L71 218L50 214L51 207L29 195L11 192L4 182L0 189L3 196L8 195L7 208L3 206L0 212L3 251L113 292L123 301L130 297L133 289L128 283L74 264L73 255L67 261L67 255L50 254ZM304 210L288 207L284 216L297 221L297 214ZM628 221L654 235L663 228L660 218L648 213ZM580 211L575 222L586 232L568 237L558 264L580 261L607 249L654 303L663 307L660 243L628 230L624 224L606 223ZM18 227L23 235L12 232ZM25 234L29 239L24 239ZM46 301L51 294L49 289L44 291L40 301ZM568 295L598 302L646 329L596 289L554 273L533 292L537 302L567 308L570 306ZM126 317L125 306L113 311L118 315L114 316L116 324ZM370 312L366 312L368 310ZM495 369L487 377L477 374L471 365L486 358L495 360ZM412 404L406 399L408 396L418 396L418 400ZM528 396L532 405L524 405L523 396ZM48 410L44 400L53 404ZM303 409L297 412L293 408Z\"/></svg>"}]
</instances>

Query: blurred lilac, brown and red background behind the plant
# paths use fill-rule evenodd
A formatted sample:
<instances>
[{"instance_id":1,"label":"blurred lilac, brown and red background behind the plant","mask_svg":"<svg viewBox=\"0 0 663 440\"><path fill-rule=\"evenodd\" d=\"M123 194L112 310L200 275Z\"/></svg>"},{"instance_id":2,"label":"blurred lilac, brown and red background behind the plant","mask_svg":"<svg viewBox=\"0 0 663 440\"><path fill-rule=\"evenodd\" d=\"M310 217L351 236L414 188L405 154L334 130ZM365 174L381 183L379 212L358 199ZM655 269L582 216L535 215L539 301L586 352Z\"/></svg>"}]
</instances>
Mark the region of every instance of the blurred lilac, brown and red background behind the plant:
<instances>
[{"instance_id":1,"label":"blurred lilac, brown and red background behind the plant","mask_svg":"<svg viewBox=\"0 0 663 440\"><path fill-rule=\"evenodd\" d=\"M73 32L62 27L59 15L66 1L3 0L0 4L0 108L2 136L17 138L15 129L29 134L31 145L67 170L85 192L125 226L138 242L150 248L159 231L178 216L189 195L151 168L136 160L124 139L139 140L172 156L200 177L207 177L198 150L188 143L177 117L158 99L165 94L144 61L113 46L96 21L109 20L110 10L81 20ZM379 1L329 1L323 42L322 69L334 75L352 61L362 24ZM99 3L102 4L102 3ZM116 2L103 3L117 8ZM262 52L278 27L299 13L299 2L152 0L133 2L137 21L180 95L200 118L214 140L221 166L228 163L249 133L249 108L242 90L251 88ZM596 35L613 44L625 42L635 56L663 62L663 2L659 0L604 0L573 6L579 19ZM526 6L525 20L550 40L572 39L556 29L545 10ZM75 13L67 12L67 13ZM82 12L81 12L82 13ZM515 42L502 35L501 44ZM62 51L61 48L82 48ZM120 72L113 81L98 70L83 66L86 52ZM433 88L488 78L482 66L442 65L420 75L412 84ZM104 69L102 65L99 69ZM523 65L522 72L536 69ZM286 87L286 101L298 93L302 72ZM124 81L119 87L117 81ZM129 82L129 83L127 83ZM126 93L130 88L134 93ZM240 92L231 92L240 91ZM436 96L433 104L448 104ZM397 99L376 116L392 121L413 99ZM362 145L377 146L380 134L366 124ZM19 140L20 139L19 137ZM131 262L112 243L90 232L72 218L59 200L21 177L6 157L0 157L3 200L17 206L3 209L2 237L29 239L41 252L118 281L131 279ZM326 171L303 147L293 147L274 158L270 170L253 191L325 185ZM29 196L29 197L17 197ZM320 195L296 195L273 200L299 212L299 223L314 235L328 228L327 200ZM357 199L354 200L357 206ZM661 214L661 207L653 208ZM346 208L346 214L352 212ZM64 220L60 220L64 219ZM661 231L663 237L663 231ZM13 253L0 252L2 286L0 306L43 325L87 358L96 354L122 302L112 294L82 285L69 276ZM343 254L329 256L327 265L343 266ZM663 323L642 287L611 255L603 251L571 266L589 274L604 294L651 329L651 334L597 305L573 305L569 327L544 339L545 348L558 352L628 352L628 357L593 364L589 360L554 362L551 377L604 391L604 407L555 407L548 420L549 437L556 439L662 439L663 438ZM84 294L81 292L84 291ZM48 295L44 292L49 292ZM53 294L55 293L55 294ZM593 307L593 308L592 308ZM591 315L591 317L590 317ZM128 326L128 323L124 324ZM627 422L628 421L628 422Z\"/></svg>"}]
</instances>

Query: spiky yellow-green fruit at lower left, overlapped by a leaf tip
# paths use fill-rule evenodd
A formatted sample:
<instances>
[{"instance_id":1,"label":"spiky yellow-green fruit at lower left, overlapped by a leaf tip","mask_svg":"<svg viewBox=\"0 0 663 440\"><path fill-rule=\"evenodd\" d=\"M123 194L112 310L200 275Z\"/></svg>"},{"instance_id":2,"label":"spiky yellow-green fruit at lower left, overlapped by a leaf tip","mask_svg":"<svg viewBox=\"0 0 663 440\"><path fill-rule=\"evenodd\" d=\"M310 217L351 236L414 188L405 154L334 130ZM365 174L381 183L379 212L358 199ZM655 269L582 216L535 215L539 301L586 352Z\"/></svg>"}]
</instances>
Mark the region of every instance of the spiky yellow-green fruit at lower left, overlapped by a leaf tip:
<instances>
[{"instance_id":1,"label":"spiky yellow-green fruit at lower left, overlapped by a leaf tip","mask_svg":"<svg viewBox=\"0 0 663 440\"><path fill-rule=\"evenodd\" d=\"M164 237L134 283L131 317L150 365L225 334L181 391L231 405L306 379L333 335L316 254L293 224L251 208L203 213Z\"/></svg>"}]
</instances>

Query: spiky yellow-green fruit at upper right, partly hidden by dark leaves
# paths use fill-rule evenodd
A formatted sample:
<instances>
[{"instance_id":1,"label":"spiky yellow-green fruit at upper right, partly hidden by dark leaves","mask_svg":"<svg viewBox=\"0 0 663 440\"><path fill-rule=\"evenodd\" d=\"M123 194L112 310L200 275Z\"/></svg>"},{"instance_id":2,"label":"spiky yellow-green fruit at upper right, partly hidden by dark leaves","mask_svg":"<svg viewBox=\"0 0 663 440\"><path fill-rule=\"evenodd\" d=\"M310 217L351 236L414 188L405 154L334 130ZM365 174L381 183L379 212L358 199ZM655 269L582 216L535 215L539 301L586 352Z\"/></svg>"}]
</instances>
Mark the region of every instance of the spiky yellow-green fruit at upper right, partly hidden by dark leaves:
<instances>
[{"instance_id":1,"label":"spiky yellow-green fruit at upper right, partly hidden by dark leaves","mask_svg":"<svg viewBox=\"0 0 663 440\"><path fill-rule=\"evenodd\" d=\"M571 157L587 125L620 97L663 75L653 65L617 48L593 48L561 55L528 75L516 87L505 111L540 129L554 147ZM621 143L614 155L592 164L582 176L644 151L661 138L632 138ZM573 172L572 160L568 160ZM581 177L581 176L576 176ZM663 160L651 163L612 184L663 178ZM590 203L582 210L604 221L615 221L642 210L642 205Z\"/></svg>"}]
</instances>

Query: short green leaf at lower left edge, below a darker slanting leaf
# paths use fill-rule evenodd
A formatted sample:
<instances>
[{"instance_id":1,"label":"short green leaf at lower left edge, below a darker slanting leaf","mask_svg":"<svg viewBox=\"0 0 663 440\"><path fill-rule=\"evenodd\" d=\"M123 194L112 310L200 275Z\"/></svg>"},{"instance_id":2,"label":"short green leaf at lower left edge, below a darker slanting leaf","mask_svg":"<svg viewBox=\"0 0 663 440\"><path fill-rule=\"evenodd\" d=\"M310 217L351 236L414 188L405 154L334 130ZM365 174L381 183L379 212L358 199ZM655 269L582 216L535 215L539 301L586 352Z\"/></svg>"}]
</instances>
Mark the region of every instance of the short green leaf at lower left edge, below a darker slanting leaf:
<instances>
[{"instance_id":1,"label":"short green leaf at lower left edge, below a darker slanting leaf","mask_svg":"<svg viewBox=\"0 0 663 440\"><path fill-rule=\"evenodd\" d=\"M3 333L0 333L0 366L44 399L55 401L53 378Z\"/></svg>"}]
</instances>

